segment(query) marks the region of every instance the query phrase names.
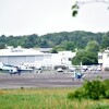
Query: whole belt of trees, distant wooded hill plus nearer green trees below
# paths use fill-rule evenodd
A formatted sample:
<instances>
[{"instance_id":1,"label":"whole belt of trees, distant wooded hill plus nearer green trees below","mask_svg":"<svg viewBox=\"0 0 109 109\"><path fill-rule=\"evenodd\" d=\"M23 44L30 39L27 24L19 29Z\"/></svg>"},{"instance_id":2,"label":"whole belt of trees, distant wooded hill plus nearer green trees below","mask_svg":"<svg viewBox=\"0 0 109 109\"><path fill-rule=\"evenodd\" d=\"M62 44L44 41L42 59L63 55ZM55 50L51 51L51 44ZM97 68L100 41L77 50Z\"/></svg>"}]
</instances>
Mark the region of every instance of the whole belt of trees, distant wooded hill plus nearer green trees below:
<instances>
[{"instance_id":1,"label":"whole belt of trees, distant wooded hill plus nearer green trees below","mask_svg":"<svg viewBox=\"0 0 109 109\"><path fill-rule=\"evenodd\" d=\"M84 31L61 32L38 36L37 34L24 36L0 36L0 49L5 46L22 46L24 48L52 48L51 52L59 50L76 51L73 64L97 64L97 52L109 47L109 32L92 33Z\"/></svg>"}]
</instances>

